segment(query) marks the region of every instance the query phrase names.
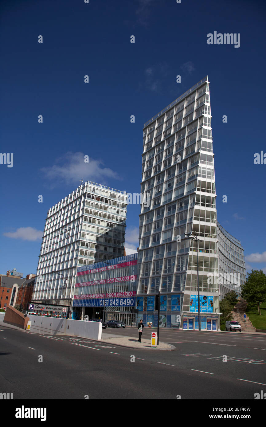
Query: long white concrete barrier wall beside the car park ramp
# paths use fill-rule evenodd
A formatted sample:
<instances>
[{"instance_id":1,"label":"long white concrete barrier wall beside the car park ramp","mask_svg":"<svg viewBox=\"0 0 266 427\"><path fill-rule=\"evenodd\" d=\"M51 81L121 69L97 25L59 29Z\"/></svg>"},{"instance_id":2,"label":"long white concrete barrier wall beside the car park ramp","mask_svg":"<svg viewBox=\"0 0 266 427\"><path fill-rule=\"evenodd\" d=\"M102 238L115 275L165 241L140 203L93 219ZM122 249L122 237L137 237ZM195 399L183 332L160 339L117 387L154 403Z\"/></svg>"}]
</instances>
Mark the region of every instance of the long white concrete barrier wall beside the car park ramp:
<instances>
[{"instance_id":1,"label":"long white concrete barrier wall beside the car park ramp","mask_svg":"<svg viewBox=\"0 0 266 427\"><path fill-rule=\"evenodd\" d=\"M31 332L49 333L51 335L71 335L83 338L101 339L102 323L85 322L84 320L54 319L46 316L32 316L28 314L32 324Z\"/></svg>"}]
</instances>

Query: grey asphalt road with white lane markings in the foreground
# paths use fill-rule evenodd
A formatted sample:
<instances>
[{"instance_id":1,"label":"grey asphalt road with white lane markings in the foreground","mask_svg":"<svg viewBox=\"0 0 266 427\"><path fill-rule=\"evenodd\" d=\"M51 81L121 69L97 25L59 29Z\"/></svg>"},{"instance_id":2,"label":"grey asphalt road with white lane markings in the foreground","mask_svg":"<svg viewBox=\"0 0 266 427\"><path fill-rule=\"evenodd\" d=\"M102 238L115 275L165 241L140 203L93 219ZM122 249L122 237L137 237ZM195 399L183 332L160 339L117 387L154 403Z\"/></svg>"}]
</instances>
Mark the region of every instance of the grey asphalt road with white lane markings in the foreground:
<instances>
[{"instance_id":1,"label":"grey asphalt road with white lane markings in the foreground","mask_svg":"<svg viewBox=\"0 0 266 427\"><path fill-rule=\"evenodd\" d=\"M106 332L132 336L130 329ZM144 330L143 337L150 333ZM254 400L254 393L266 391L264 336L166 330L161 339L175 350L153 352L1 326L0 392L12 392L14 399L88 395L89 399L176 400L180 396L235 401Z\"/></svg>"}]
</instances>

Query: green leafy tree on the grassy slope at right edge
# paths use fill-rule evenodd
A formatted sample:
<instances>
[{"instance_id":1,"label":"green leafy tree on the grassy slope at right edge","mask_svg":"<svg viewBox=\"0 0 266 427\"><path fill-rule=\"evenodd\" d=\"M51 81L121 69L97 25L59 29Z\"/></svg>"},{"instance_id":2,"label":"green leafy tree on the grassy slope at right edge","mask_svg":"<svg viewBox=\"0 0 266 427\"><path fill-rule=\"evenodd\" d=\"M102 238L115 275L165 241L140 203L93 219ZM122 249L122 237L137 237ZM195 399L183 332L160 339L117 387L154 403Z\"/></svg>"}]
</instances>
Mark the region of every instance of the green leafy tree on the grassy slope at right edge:
<instances>
[{"instance_id":1,"label":"green leafy tree on the grassy slope at right edge","mask_svg":"<svg viewBox=\"0 0 266 427\"><path fill-rule=\"evenodd\" d=\"M266 301L266 275L262 270L251 270L248 273L248 278L245 284L240 286L241 296L246 299L249 304L257 304L259 315L260 302Z\"/></svg>"}]
</instances>

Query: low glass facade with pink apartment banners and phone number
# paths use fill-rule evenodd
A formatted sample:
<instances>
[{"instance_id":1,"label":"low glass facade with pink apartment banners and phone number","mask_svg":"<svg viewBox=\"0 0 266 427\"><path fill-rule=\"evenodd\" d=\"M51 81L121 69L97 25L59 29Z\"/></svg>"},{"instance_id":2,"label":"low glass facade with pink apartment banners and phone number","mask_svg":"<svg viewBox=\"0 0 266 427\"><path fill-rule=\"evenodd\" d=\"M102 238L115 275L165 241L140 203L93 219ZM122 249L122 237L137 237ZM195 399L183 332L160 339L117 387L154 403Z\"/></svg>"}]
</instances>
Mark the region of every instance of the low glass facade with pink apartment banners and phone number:
<instances>
[{"instance_id":1,"label":"low glass facade with pink apartment banners and phone number","mask_svg":"<svg viewBox=\"0 0 266 427\"><path fill-rule=\"evenodd\" d=\"M131 310L136 306L136 291L137 253L79 267L73 313L80 319L88 315L130 325L135 321Z\"/></svg>"}]
</instances>

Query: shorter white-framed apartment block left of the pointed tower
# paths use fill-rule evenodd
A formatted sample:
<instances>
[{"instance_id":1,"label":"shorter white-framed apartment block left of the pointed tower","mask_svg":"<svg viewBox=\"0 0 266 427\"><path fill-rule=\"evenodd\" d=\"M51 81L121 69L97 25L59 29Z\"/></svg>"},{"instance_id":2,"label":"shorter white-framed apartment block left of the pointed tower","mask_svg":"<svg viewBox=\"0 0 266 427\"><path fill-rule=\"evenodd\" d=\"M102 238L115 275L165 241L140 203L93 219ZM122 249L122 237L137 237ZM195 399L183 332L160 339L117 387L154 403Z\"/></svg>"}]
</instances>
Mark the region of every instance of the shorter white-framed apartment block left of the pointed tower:
<instances>
[{"instance_id":1,"label":"shorter white-framed apartment block left of the pointed tower","mask_svg":"<svg viewBox=\"0 0 266 427\"><path fill-rule=\"evenodd\" d=\"M123 255L127 205L122 196L87 181L49 209L33 302L70 307L79 266Z\"/></svg>"}]
</instances>

